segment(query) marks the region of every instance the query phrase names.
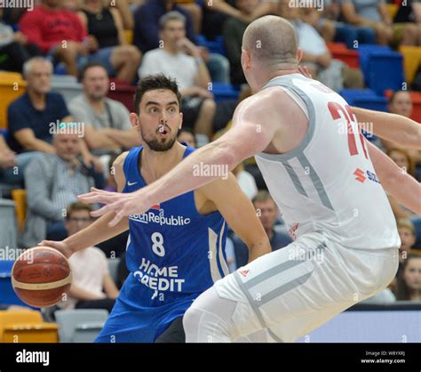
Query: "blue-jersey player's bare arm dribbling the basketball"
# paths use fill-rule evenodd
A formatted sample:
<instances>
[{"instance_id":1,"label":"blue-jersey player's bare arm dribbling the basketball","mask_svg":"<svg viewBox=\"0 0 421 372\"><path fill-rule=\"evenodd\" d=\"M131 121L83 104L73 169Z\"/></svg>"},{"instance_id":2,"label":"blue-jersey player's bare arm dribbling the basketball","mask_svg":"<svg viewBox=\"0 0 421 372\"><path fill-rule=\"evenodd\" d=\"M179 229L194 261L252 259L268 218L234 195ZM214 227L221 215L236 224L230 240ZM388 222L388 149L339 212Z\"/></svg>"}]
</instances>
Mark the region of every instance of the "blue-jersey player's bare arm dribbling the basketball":
<instances>
[{"instance_id":1,"label":"blue-jersey player's bare arm dribbling the basketball","mask_svg":"<svg viewBox=\"0 0 421 372\"><path fill-rule=\"evenodd\" d=\"M123 153L115 159L113 164L115 182L117 183L119 192L123 190L125 185L123 163L126 156L127 152ZM108 223L113 220L114 216L115 214L113 213L105 214L85 229L76 232L74 235L64 239L63 241L43 240L38 245L56 248L63 255L70 257L70 255L80 249L93 247L107 239L114 238L116 235L129 229L129 222L127 218L123 218L114 227L110 228Z\"/></svg>"}]
</instances>

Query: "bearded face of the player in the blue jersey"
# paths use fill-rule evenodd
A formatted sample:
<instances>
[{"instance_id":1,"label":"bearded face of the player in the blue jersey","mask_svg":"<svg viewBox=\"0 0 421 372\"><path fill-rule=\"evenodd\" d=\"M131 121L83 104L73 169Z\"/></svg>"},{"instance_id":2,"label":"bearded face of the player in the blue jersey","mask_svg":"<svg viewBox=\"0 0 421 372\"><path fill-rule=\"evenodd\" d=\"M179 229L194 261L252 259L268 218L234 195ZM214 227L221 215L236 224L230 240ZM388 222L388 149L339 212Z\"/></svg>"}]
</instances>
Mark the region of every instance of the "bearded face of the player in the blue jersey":
<instances>
[{"instance_id":1,"label":"bearded face of the player in the blue jersey","mask_svg":"<svg viewBox=\"0 0 421 372\"><path fill-rule=\"evenodd\" d=\"M148 91L139 107L140 135L150 150L170 150L181 128L177 96L170 90Z\"/></svg>"}]
</instances>

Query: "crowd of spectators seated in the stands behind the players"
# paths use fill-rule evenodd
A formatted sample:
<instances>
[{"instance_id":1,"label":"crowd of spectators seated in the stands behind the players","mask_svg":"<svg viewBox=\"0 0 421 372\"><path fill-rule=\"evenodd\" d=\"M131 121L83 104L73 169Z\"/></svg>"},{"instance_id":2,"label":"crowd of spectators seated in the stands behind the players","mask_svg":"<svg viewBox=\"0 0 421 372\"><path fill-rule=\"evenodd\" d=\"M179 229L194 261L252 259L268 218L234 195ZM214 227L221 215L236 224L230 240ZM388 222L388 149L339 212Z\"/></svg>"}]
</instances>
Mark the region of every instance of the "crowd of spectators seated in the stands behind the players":
<instances>
[{"instance_id":1,"label":"crowd of spectators seated in the stands behind the players","mask_svg":"<svg viewBox=\"0 0 421 372\"><path fill-rule=\"evenodd\" d=\"M76 196L92 185L115 190L113 160L123 150L141 144L139 133L131 127L129 110L107 98L111 82L135 85L139 78L155 73L175 77L184 115L179 142L196 147L198 139L212 141L218 131L226 130L238 102L217 100L213 83L242 89L239 101L250 94L242 73L242 34L250 21L262 15L290 20L304 52L303 64L314 78L337 92L344 87L363 88L364 78L360 69L332 58L329 43L342 42L349 48L421 43L421 4L417 2L408 6L401 2L394 20L383 0L326 0L323 9L290 3L39 0L32 12L0 9L0 69L21 72L28 84L26 92L8 107L7 135L0 135L0 182L27 190L20 245L63 239L90 223L89 208L75 204ZM208 40L222 37L225 53L211 53L201 45L199 35ZM52 77L60 65L82 85L71 101L52 91ZM388 109L410 117L409 92L393 93ZM421 151L378 139L377 145L402 171L421 181ZM253 201L273 249L287 246L291 238L282 211L262 184L256 164L244 162L234 174ZM389 199L401 235L401 266L391 283L392 297L419 301L421 216ZM126 239L123 234L106 242L102 251L92 247L72 257L75 267L85 267L83 263L89 261L101 268L98 272L75 269L82 287L88 274L96 279L88 286L90 293L73 288L72 306L112 305L118 291L109 280L105 257L122 254ZM247 248L234 233L226 253L231 270L248 261Z\"/></svg>"}]
</instances>

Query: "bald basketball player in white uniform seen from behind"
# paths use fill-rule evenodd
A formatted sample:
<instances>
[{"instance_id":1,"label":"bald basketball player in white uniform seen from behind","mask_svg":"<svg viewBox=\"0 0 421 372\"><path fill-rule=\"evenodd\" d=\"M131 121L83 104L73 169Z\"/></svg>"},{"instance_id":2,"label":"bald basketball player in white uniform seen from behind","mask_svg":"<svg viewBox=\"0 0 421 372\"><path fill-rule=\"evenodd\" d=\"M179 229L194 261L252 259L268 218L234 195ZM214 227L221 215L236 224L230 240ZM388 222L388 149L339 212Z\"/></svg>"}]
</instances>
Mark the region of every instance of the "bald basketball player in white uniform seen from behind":
<instances>
[{"instance_id":1,"label":"bald basketball player in white uniform seen from behind","mask_svg":"<svg viewBox=\"0 0 421 372\"><path fill-rule=\"evenodd\" d=\"M365 142L346 101L298 73L301 56L287 20L253 21L242 68L255 94L232 128L144 189L80 197L106 203L92 214L114 211L114 225L211 182L193 173L197 164L232 169L256 156L295 241L200 295L184 317L187 342L233 342L265 328L279 342L308 334L393 279L400 239L385 190L421 214L419 183Z\"/></svg>"}]
</instances>

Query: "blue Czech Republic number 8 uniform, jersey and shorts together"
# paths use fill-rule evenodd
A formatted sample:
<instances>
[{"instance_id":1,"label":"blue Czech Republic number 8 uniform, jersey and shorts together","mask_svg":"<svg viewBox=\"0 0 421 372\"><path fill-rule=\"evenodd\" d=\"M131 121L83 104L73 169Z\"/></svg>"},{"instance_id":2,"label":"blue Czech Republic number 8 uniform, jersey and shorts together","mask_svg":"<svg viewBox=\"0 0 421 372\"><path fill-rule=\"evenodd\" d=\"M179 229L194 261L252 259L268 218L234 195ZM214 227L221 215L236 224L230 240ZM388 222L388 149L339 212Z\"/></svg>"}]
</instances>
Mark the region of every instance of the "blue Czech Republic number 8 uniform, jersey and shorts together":
<instances>
[{"instance_id":1,"label":"blue Czech Republic number 8 uniform, jersey and shorts together","mask_svg":"<svg viewBox=\"0 0 421 372\"><path fill-rule=\"evenodd\" d=\"M139 172L142 147L124 160L123 192L146 186ZM187 147L184 157L194 151ZM130 274L102 328L99 343L155 342L195 298L228 274L226 222L202 215L194 191L129 216L126 264Z\"/></svg>"}]
</instances>

